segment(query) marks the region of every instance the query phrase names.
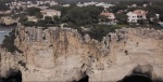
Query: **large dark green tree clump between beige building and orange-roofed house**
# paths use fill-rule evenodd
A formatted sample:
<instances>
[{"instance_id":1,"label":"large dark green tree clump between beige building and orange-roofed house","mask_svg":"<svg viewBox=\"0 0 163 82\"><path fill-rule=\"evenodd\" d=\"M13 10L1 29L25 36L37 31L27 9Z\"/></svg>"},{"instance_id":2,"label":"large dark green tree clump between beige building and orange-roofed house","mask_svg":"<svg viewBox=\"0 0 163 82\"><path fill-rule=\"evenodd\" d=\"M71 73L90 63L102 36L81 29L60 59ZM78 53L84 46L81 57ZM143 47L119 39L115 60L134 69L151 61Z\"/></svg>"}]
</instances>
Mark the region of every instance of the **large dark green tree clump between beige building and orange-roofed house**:
<instances>
[{"instance_id":1,"label":"large dark green tree clump between beige building and orange-roofed house","mask_svg":"<svg viewBox=\"0 0 163 82\"><path fill-rule=\"evenodd\" d=\"M98 17L102 10L102 8L97 6L74 6L66 11L62 11L63 15L61 19L64 23L72 22L75 25L93 24L99 22Z\"/></svg>"}]
</instances>

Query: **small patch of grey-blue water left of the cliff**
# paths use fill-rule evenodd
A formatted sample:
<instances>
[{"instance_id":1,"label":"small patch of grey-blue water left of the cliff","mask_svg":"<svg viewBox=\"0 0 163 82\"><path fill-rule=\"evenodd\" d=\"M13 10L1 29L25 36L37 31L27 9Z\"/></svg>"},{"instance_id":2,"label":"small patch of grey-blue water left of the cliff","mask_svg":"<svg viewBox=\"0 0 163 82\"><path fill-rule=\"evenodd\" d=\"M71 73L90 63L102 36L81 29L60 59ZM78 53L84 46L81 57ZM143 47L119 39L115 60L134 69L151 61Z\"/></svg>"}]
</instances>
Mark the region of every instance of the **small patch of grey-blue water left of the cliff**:
<instances>
[{"instance_id":1,"label":"small patch of grey-blue water left of the cliff","mask_svg":"<svg viewBox=\"0 0 163 82\"><path fill-rule=\"evenodd\" d=\"M15 26L0 26L0 44L2 43L4 36L8 36Z\"/></svg>"}]
</instances>

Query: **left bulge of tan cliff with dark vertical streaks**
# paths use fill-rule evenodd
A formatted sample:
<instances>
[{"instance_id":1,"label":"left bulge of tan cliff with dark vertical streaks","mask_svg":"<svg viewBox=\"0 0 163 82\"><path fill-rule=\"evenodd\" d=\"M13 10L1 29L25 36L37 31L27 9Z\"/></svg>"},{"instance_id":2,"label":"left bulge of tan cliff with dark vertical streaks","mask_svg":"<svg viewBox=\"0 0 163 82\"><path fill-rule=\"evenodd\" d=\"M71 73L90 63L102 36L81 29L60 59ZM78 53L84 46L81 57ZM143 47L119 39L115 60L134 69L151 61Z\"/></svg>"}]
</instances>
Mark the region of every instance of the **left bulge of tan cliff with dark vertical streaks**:
<instances>
[{"instance_id":1,"label":"left bulge of tan cliff with dark vertical streaks","mask_svg":"<svg viewBox=\"0 0 163 82\"><path fill-rule=\"evenodd\" d=\"M89 37L83 38L76 30L60 28L18 30L21 35L17 35L15 43L24 52L23 62L26 63L26 67L21 68L24 81L79 80L86 76L91 58L100 56L97 49L100 43L96 43Z\"/></svg>"}]
</instances>

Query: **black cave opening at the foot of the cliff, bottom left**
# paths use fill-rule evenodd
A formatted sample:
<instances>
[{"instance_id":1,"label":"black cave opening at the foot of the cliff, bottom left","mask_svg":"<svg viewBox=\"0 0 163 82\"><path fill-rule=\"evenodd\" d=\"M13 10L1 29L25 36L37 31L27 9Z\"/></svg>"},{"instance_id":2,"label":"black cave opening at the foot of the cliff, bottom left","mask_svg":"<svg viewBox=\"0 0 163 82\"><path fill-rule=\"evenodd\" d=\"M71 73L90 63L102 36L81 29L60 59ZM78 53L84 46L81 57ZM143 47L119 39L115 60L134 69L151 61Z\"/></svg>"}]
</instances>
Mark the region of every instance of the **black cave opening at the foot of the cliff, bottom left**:
<instances>
[{"instance_id":1,"label":"black cave opening at the foot of the cliff, bottom left","mask_svg":"<svg viewBox=\"0 0 163 82\"><path fill-rule=\"evenodd\" d=\"M3 79L2 82L22 82L22 72L14 72L9 78Z\"/></svg>"}]
</instances>

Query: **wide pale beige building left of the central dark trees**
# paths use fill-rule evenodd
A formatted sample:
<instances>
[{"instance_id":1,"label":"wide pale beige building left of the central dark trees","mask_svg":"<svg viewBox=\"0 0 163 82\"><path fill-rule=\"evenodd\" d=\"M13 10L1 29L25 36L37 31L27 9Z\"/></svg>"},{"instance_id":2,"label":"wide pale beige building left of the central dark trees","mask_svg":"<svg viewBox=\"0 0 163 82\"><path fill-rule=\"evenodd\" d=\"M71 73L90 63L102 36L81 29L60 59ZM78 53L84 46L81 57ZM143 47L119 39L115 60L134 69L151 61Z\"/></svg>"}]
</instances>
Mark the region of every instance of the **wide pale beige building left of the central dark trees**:
<instances>
[{"instance_id":1,"label":"wide pale beige building left of the central dark trees","mask_svg":"<svg viewBox=\"0 0 163 82\"><path fill-rule=\"evenodd\" d=\"M46 16L50 16L50 17L53 17L53 16L61 16L61 12L60 11L55 11L55 10L43 10L41 11L42 15L43 15L43 18Z\"/></svg>"}]
</instances>

